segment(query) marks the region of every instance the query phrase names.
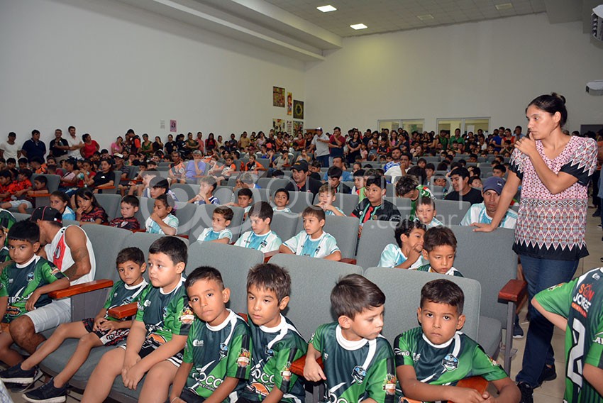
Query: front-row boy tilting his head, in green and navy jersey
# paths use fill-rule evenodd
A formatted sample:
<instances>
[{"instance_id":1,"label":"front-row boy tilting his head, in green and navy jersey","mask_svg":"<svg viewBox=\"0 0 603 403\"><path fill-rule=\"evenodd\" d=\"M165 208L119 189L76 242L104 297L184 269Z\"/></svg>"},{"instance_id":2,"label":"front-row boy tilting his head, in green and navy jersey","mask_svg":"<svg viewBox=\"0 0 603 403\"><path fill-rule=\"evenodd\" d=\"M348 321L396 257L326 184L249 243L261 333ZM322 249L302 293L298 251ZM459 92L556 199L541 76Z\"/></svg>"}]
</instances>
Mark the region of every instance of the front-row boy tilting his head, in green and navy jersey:
<instances>
[{"instance_id":1,"label":"front-row boy tilting his head, in green and navy jersey","mask_svg":"<svg viewBox=\"0 0 603 403\"><path fill-rule=\"evenodd\" d=\"M184 283L196 315L170 403L234 402L249 377L251 337L245 320L226 308L231 290L214 267L197 267Z\"/></svg>"}]
</instances>

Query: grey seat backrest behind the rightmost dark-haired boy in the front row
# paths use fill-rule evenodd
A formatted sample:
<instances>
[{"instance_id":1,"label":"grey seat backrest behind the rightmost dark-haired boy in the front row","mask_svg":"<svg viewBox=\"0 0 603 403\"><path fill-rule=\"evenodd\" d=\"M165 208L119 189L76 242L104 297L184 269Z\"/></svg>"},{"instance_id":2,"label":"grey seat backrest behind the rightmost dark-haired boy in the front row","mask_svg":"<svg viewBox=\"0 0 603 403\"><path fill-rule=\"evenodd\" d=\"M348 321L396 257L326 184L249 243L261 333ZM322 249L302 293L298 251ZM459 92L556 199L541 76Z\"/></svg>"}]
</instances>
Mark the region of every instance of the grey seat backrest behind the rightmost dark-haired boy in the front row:
<instances>
[{"instance_id":1,"label":"grey seat backrest behind the rightmost dark-haired boy in the front row","mask_svg":"<svg viewBox=\"0 0 603 403\"><path fill-rule=\"evenodd\" d=\"M480 283L463 277L439 275L437 273L419 272L388 267L369 267L365 277L374 282L385 294L384 326L381 332L390 343L400 333L419 326L416 309L421 303L421 288L426 282L444 278L455 282L465 294L463 314L467 317L463 332L473 340L477 340L477 328L480 321ZM404 291L401 292L401 286Z\"/></svg>"}]
</instances>

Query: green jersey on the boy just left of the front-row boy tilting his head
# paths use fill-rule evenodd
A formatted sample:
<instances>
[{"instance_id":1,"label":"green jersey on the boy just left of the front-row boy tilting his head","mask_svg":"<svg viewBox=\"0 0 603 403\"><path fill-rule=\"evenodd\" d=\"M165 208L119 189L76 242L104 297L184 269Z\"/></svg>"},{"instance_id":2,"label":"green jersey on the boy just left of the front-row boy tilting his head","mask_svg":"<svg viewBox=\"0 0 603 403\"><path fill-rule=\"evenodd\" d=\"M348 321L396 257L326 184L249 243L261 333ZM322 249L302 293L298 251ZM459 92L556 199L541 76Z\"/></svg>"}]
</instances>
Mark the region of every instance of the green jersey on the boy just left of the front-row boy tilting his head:
<instances>
[{"instance_id":1,"label":"green jersey on the boy just left of the front-row boy tilting his head","mask_svg":"<svg viewBox=\"0 0 603 403\"><path fill-rule=\"evenodd\" d=\"M136 320L144 322L150 340L163 344L172 340L172 334L186 336L193 319L184 278L172 292L148 285L140 294Z\"/></svg>"}]
</instances>

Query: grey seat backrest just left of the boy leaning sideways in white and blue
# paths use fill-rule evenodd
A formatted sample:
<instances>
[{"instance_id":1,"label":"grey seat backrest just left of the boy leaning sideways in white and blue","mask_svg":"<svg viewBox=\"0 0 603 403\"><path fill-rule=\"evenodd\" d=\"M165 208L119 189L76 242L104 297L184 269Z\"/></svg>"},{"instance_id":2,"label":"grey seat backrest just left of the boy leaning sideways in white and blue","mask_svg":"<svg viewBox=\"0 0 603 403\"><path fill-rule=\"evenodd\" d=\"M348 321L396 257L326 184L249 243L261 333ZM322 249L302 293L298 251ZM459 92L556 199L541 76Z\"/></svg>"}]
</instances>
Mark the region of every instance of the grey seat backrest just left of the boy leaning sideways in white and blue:
<instances>
[{"instance_id":1,"label":"grey seat backrest just left of the boy leaning sideways in white and blue","mask_svg":"<svg viewBox=\"0 0 603 403\"><path fill-rule=\"evenodd\" d=\"M367 221L358 241L356 264L363 269L379 264L381 253L389 243L396 243L394 229L398 223L392 221Z\"/></svg>"}]
</instances>

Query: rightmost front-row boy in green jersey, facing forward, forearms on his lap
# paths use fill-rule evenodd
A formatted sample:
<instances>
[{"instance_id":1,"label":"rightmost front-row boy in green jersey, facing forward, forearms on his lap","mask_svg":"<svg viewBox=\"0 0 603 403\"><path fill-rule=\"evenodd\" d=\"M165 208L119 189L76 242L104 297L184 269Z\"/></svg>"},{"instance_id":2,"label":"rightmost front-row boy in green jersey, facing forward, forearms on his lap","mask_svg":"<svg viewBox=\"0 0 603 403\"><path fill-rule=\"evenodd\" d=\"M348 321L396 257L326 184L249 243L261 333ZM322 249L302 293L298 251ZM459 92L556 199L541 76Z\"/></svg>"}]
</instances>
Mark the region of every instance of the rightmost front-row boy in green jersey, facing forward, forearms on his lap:
<instances>
[{"instance_id":1,"label":"rightmost front-row boy in green jersey, facing forward, forearms on his lap","mask_svg":"<svg viewBox=\"0 0 603 403\"><path fill-rule=\"evenodd\" d=\"M488 392L456 387L466 377L492 382L496 402L519 402L519 389L482 347L460 332L465 324L463 290L450 280L433 280L421 289L416 316L420 327L396 337L396 372L409 399L436 402L494 401ZM402 398L403 402L404 399Z\"/></svg>"}]
</instances>

